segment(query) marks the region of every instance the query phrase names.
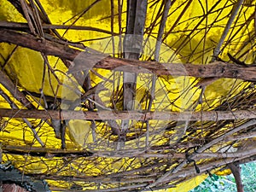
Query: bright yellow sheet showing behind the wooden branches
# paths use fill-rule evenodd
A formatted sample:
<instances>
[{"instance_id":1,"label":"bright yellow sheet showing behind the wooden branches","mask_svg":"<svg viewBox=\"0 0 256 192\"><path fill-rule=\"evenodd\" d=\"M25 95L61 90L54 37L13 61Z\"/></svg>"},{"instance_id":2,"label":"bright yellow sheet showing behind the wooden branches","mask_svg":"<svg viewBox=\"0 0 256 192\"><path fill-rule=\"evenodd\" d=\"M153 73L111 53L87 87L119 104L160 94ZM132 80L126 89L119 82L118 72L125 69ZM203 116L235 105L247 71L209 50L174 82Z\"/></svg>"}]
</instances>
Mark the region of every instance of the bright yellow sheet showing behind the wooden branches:
<instances>
[{"instance_id":1,"label":"bright yellow sheet showing behind the wooden branches","mask_svg":"<svg viewBox=\"0 0 256 192\"><path fill-rule=\"evenodd\" d=\"M78 18L77 14L79 14L84 8L86 8L90 3L93 1L84 1L84 0L76 0L76 1L69 1L69 0L55 0L55 1L49 1L49 0L42 0L40 1L44 9L46 10L47 14L49 15L49 19L53 24L65 24L65 25L71 25L73 24L73 20L69 20L74 16L74 18ZM110 1L103 0L100 3L96 3L95 7L90 9L89 13L83 15L76 23L75 25L78 26L94 26L100 29L108 30L110 31L110 18L108 17L109 9L105 9L105 7L110 7ZM115 2L115 1L114 1ZM176 15L181 14L181 11L184 8L184 1L177 1L176 7L172 8L178 8L180 11L176 12ZM207 4L206 4L207 2ZM255 2L255 1L254 1ZM177 24L177 27L175 28L176 31L183 30L184 28L188 28L191 30L194 30L195 27L202 28L200 32L198 32L195 37L193 37L192 41L189 41L189 44L185 44L181 49L181 44L183 41L186 41L190 37L190 33L183 32L183 33L175 33L172 36L169 36L165 40L165 44L161 48L161 55L160 55L160 61L167 62L167 58L170 57L170 55L173 55L172 62L187 62L186 59L181 58L181 55L185 57L186 55L190 55L192 50L195 50L195 54L192 55L190 60L194 61L194 63L207 63L210 61L210 57L212 55L212 51L208 51L204 54L204 56L201 55L202 49L210 49L212 48L213 44L216 44L218 42L218 39L220 38L220 35L223 31L223 27L212 27L212 29L207 32L207 29L203 29L206 25L209 25L212 23L214 25L214 19L216 18L216 15L218 15L218 11L212 13L212 15L208 16L207 23L206 20L201 22L199 26L197 26L199 20L196 19L198 16L201 16L204 14L204 9L210 9L216 1L205 1L202 4L199 3L199 1L194 1L192 5L189 7L189 11L186 11L186 13L183 15L182 20ZM222 6L224 6L225 1L218 4L218 6L215 8L220 9ZM231 1L230 1L231 3ZM202 7L204 9L202 9ZM227 5L226 5L227 6ZM227 9L225 9L224 12L222 12L219 17L223 17L223 15L226 15L230 11L232 7L228 6ZM125 5L122 8L125 10ZM159 5L155 5L154 9L159 9ZM152 20L152 17L154 15L154 9L149 9L148 15L147 15L147 21L146 26L149 26ZM115 10L117 10L117 3L115 2ZM247 8L247 12L245 14L245 17L239 18L239 22L243 22L246 19L246 16L252 15L254 11L254 8ZM190 18L195 18L193 20L190 20ZM7 1L7 0L0 0L0 20L8 20L8 21L17 21L17 22L25 22L22 18L22 16L17 12L17 10ZM176 16L169 17L166 29L170 29L172 25L174 24L176 20ZM225 25L228 20L228 17L224 20L221 20L218 22L218 25ZM113 31L119 32L119 26L117 25L118 19L117 17L114 18L114 26ZM122 14L122 27L125 27L125 13ZM252 23L247 26L248 30L253 29ZM235 29L238 30L238 29ZM105 34L102 32L90 32L90 31L74 31L74 30L57 30L60 32L61 35L63 35L64 38L67 38L68 40L71 40L73 42L82 41L84 40L84 45L90 46L93 49L97 49L100 51L105 51L105 53L112 53L113 46L115 47L115 51L118 52L118 44L119 44L119 38L115 37L114 42L111 43L111 38L109 34ZM158 32L158 27L155 27L153 32ZM155 33L154 33L155 34ZM201 41L202 37L204 35L207 35L206 42ZM245 40L248 36L242 36L241 33L237 33L237 44L230 45L229 49L224 49L223 55L226 55L228 52L232 54L232 50L234 50L234 53L237 49L246 49L242 48L242 44L239 44L239 40ZM95 41L86 41L89 38L106 38L105 40L95 40ZM150 48L149 45L153 46L152 44L155 44L155 37L153 35L152 38L150 38L150 41L148 44L148 47L145 48L144 55L150 55ZM110 43L109 43L110 42ZM105 46L108 45L108 49L105 49ZM249 44L247 46L250 46ZM103 49L104 48L104 49ZM17 85L20 87L20 90L29 90L32 92L39 93L39 89L43 87L44 94L49 96L58 96L58 97L67 97L67 98L75 98L75 95L73 95L73 90L70 89L70 86L73 86L73 81L68 81L65 79L65 76L62 73L56 72L55 74L57 77L53 76L51 73L49 73L49 68L44 68L44 60L42 58L42 55L38 53L37 51L33 51L30 49L20 48L18 47L15 50L15 53L12 55L8 63L5 63L3 58L7 58L10 52L15 49L15 45L11 44L0 44L0 53L2 57L0 57L0 63L3 66L5 65L4 70L9 74L9 77L14 80L14 82L17 82ZM178 50L178 54L177 54ZM253 51L255 52L255 46L252 48L252 51L247 55L246 61L250 63L253 61ZM223 59L227 59L224 57ZM64 64L57 60L53 56L48 56L49 60L49 67L51 67L52 70L61 70L61 71L67 71L68 69L64 66ZM108 70L102 70L102 69L96 69L97 73L100 73L102 76L112 79L113 80L113 73L109 72ZM46 75L44 75L46 74ZM49 75L48 75L49 74ZM44 81L42 81L42 77L44 76ZM94 80L95 84L98 84L102 81L102 79L98 78L96 75L91 73L91 77ZM137 84L137 110L141 110L145 106L145 102L143 101L143 95L145 92L149 90L148 85L145 83L144 79L147 79L147 77L140 77L138 79ZM158 110L172 110L172 111L182 111L181 108L185 108L186 106L192 105L200 96L200 90L197 88L193 88L189 90L189 92L186 94L186 96L180 97L175 101L175 105L177 107L170 107L169 102L170 100L177 97L177 90L184 90L189 84L192 84L192 82L196 82L195 78L189 78L189 77L179 77L176 79L165 79L162 78L160 81L156 84L156 93L155 93L155 102L153 105L153 109ZM62 86L62 83L67 83L66 87ZM51 85L50 85L51 84ZM93 85L95 85L93 84ZM242 84L240 80L233 80L233 79L219 79L215 81L214 83L207 86L207 90L205 92L206 99L211 101L207 103L210 106L218 106L220 104L219 98L221 96L226 96L231 87L234 87L236 85L240 85L239 88L236 89L236 91L232 92L231 94L235 95L237 92L242 90L246 84ZM166 90L163 90L162 87L166 86L166 90L170 91L168 94L166 94ZM3 89L3 87L0 87ZM8 92L7 90L4 90ZM164 92L162 92L164 91ZM175 93L176 92L176 93ZM110 90L102 91L100 96L102 96L102 101L106 103L106 105L110 106L109 96L111 94ZM168 97L166 97L166 95ZM17 102L17 105L20 106L20 103ZM37 105L37 104L36 104ZM44 106L41 106L42 104L38 104L38 108L43 108ZM119 103L119 106L117 108L120 108L121 103ZM1 108L10 108L9 104L3 101L3 98L0 97L0 107ZM204 106L203 106L204 108ZM200 110L201 107L198 106L196 110ZM39 120L32 119L32 124L38 125L40 122ZM152 121L152 125L154 125L156 122ZM159 122L158 122L159 123ZM32 145L32 146L39 146L39 143L34 140L32 131L29 128L24 128L23 126L16 128L15 131L12 131L13 127L15 125L20 125L20 119L9 119L9 125L5 126L3 131L1 131L0 134L0 140L5 140L5 143L13 144L13 145ZM67 146L69 148L83 148L84 143L92 143L93 138L91 137L90 132L90 122L89 121L79 121L79 120L73 120L69 122L68 127L68 136L67 138ZM26 125L24 125L26 126ZM140 128L139 125L135 126L135 129ZM100 131L106 131L106 127L101 127L101 129L97 128L97 132L100 136ZM61 143L60 140L56 139L54 137L54 131L52 128L49 127L49 125L44 124L41 126L41 128L38 129L38 134L41 136L44 143L47 143L47 147L51 148L60 148ZM159 136L152 136L155 140L157 140ZM152 138L151 137L151 138ZM142 142L145 141L145 137L142 138ZM161 141L157 142L158 144L161 143ZM128 143L131 146L136 146L137 143ZM5 157L7 160L8 157ZM12 159L11 156L9 156L10 159ZM15 159L23 159L22 156L15 156ZM31 159L31 161L36 161L37 159ZM27 161L30 161L28 159ZM108 161L108 160L107 160ZM128 165L129 160L117 160L114 161L113 159L109 160L109 166L108 169L112 169L113 171L118 171L121 169L121 165L125 163ZM60 161L61 162L61 161ZM47 169L49 167L52 167L54 169L55 166L63 166L58 165L60 163L57 158L53 160L49 160L47 163L47 166L44 164L39 163L33 163L30 166L26 166L26 172L47 172ZM89 172L91 172L91 175L96 175L101 172L101 168L106 168L106 160L102 162L99 158L99 166L93 167L90 165L90 162L87 162L87 169ZM78 163L79 164L79 163ZM20 165L16 165L20 166ZM49 167L48 167L49 166ZM74 165L75 167L75 165ZM75 172L75 168L78 167L69 167L69 172ZM124 168L124 167L123 167ZM78 168L79 169L79 168ZM223 172L218 172L218 174L222 174ZM224 171L224 174L229 174L229 172ZM189 181L185 183L180 183L177 185L176 189L166 189L166 190L159 190L158 192L175 192L175 191L189 191L190 189L195 188L198 184L200 184L207 175L203 174L201 176L194 177L190 179ZM53 181L51 181L53 182ZM67 186L67 183L59 183L60 186Z\"/></svg>"}]
</instances>

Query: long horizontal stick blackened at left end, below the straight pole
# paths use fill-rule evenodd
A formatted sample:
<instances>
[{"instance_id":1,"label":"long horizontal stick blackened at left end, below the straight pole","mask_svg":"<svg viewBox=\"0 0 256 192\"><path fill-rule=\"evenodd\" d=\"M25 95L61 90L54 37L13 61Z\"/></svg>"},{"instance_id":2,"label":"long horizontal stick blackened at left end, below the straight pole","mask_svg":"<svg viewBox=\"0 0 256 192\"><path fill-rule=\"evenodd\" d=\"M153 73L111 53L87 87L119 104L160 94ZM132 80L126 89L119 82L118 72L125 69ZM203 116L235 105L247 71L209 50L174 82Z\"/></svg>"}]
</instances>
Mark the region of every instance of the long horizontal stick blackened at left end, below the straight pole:
<instances>
[{"instance_id":1,"label":"long horizontal stick blackened at left end, below the straight pole","mask_svg":"<svg viewBox=\"0 0 256 192\"><path fill-rule=\"evenodd\" d=\"M166 149L160 150L145 150L144 148L124 149L122 151L78 151L78 150L66 150L56 148L37 148L26 146L11 146L3 145L4 153L7 154L29 154L31 156L52 158L52 157L109 157L109 158L161 158L161 159L186 159L186 155L183 153L176 153L173 151L166 153ZM229 153L201 153L198 154L195 160L203 159L225 159L225 158L240 158L256 154L256 148L247 148L247 150Z\"/></svg>"}]
</instances>

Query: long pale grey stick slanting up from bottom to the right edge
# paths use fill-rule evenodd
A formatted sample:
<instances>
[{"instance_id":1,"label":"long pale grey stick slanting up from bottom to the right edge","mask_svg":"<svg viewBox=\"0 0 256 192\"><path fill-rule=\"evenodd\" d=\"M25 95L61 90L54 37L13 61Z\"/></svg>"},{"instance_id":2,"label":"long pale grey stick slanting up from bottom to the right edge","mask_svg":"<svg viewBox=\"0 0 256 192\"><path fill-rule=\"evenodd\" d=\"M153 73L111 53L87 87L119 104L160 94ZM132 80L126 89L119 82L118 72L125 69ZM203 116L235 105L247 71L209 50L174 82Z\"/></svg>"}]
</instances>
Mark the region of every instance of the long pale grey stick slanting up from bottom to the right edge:
<instances>
[{"instance_id":1,"label":"long pale grey stick slanting up from bottom to the right edge","mask_svg":"<svg viewBox=\"0 0 256 192\"><path fill-rule=\"evenodd\" d=\"M194 160L201 152L203 152L207 148L212 147L212 145L224 140L225 137L230 136L230 135L236 133L237 131L241 131L243 129L246 129L248 126L255 125L255 124L256 124L256 119L252 119L252 120L248 121L247 123L236 127L235 129L225 133L221 137L218 137L218 138L212 140L212 142L209 142L209 143L205 144L204 146L202 146L201 148L198 148L195 153L189 155L188 159L189 160ZM187 164L187 160L183 160L182 163L180 163L175 168L172 168L172 170L166 172L162 177L159 177L154 183L149 184L147 187L150 188L150 187L155 186L158 183L164 182L166 180L170 180L171 179L170 176L173 175L174 173L177 173L186 164ZM225 162L225 164L226 164L226 162Z\"/></svg>"}]
</instances>

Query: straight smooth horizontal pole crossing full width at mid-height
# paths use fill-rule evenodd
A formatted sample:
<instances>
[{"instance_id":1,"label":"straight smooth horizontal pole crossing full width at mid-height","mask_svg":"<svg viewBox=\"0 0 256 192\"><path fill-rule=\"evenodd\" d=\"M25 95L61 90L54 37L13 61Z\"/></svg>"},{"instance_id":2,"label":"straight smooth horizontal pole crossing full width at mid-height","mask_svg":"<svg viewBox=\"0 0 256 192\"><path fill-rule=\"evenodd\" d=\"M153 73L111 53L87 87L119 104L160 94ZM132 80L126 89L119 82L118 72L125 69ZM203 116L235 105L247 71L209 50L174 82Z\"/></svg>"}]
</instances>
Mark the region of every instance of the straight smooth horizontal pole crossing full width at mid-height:
<instances>
[{"instance_id":1,"label":"straight smooth horizontal pole crossing full width at mid-height","mask_svg":"<svg viewBox=\"0 0 256 192\"><path fill-rule=\"evenodd\" d=\"M0 117L26 119L135 119L135 120L226 120L256 119L256 110L205 111L201 112L137 112L137 111L71 111L71 110L37 110L37 109L0 109Z\"/></svg>"}]
</instances>

